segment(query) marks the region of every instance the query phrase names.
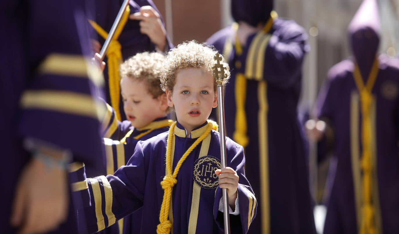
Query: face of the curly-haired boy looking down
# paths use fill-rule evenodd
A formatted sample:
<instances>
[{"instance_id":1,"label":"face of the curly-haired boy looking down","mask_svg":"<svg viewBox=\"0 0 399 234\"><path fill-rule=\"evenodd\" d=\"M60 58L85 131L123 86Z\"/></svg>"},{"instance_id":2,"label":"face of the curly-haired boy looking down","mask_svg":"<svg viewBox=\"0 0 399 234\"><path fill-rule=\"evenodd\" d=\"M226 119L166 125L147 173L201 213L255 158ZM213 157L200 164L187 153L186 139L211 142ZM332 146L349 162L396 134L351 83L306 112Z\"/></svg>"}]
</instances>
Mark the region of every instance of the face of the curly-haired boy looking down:
<instances>
[{"instance_id":1,"label":"face of the curly-haired boy looking down","mask_svg":"<svg viewBox=\"0 0 399 234\"><path fill-rule=\"evenodd\" d=\"M124 77L120 81L120 92L126 118L135 128L142 128L156 118L166 115L166 95L153 98L148 92L146 81Z\"/></svg>"}]
</instances>

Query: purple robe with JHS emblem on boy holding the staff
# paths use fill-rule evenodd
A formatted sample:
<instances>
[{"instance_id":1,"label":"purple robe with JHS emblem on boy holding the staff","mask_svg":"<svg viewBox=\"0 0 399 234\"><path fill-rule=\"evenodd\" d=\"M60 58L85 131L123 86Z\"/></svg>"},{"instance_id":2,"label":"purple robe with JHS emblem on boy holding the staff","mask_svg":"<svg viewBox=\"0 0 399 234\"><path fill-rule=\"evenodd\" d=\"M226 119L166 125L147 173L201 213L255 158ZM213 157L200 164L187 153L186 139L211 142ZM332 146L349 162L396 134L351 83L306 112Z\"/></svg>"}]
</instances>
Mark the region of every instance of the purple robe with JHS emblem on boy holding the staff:
<instances>
[{"instance_id":1,"label":"purple robe with JHS emblem on boy holding the staff","mask_svg":"<svg viewBox=\"0 0 399 234\"><path fill-rule=\"evenodd\" d=\"M206 123L199 126L191 132L193 138L190 138L186 137L184 128L177 123L173 135L174 147L172 146L173 169L181 155L205 132L206 128ZM92 203L92 206L85 210L88 232L97 232L140 207L142 207L140 233L156 232L164 196L160 182L166 173L167 136L168 133L165 132L144 142L138 142L126 166L120 167L114 175L88 180ZM231 233L246 233L249 224L255 218L257 202L244 174L243 147L227 138L226 154L227 166L235 169L239 175L237 191L240 214L230 214ZM208 167L208 161L205 160L207 158L219 160L220 163L219 133L214 130L188 155L176 177L178 183L173 187L170 210L173 213L175 234L187 233L189 228L190 230L195 228L196 233L223 233L223 213L218 210L222 193L217 186L217 176L214 174L217 167L214 166L216 164L212 164L212 167L209 164ZM203 159L202 164L199 163L201 162L199 159ZM205 169L201 170L201 165L206 165ZM195 169L196 166L198 170ZM202 179L203 181L210 179L213 183L216 182L216 185L197 182ZM209 184L211 186L206 187Z\"/></svg>"}]
</instances>

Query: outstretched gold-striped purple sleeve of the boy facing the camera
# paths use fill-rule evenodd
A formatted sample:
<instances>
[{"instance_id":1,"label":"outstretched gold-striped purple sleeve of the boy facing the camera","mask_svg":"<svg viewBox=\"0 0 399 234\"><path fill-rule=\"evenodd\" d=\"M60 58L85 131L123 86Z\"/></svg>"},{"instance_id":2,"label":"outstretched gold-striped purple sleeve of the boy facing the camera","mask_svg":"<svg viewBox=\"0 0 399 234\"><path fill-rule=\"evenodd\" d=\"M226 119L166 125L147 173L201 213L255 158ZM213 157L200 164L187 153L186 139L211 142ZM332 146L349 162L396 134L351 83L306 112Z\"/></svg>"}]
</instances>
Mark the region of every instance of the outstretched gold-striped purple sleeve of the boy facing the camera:
<instances>
[{"instance_id":1,"label":"outstretched gold-striped purple sleeve of the boy facing the camera","mask_svg":"<svg viewBox=\"0 0 399 234\"><path fill-rule=\"evenodd\" d=\"M89 199L78 212L79 229L84 233L98 232L142 207L146 171L139 142L127 166L120 167L114 175L87 179L89 196L85 197Z\"/></svg>"}]
</instances>

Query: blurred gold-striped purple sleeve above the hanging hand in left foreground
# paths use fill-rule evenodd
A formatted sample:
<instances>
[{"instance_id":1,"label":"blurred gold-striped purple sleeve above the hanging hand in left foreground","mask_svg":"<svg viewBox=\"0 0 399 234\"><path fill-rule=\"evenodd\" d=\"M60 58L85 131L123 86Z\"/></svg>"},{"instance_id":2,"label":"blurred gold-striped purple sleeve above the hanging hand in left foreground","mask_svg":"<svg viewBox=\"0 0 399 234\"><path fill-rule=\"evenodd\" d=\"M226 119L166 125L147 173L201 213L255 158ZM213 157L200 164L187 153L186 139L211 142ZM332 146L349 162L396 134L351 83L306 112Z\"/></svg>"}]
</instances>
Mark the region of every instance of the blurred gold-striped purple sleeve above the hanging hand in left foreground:
<instances>
[{"instance_id":1,"label":"blurred gold-striped purple sleeve above the hanging hand in left foreground","mask_svg":"<svg viewBox=\"0 0 399 234\"><path fill-rule=\"evenodd\" d=\"M20 99L18 134L67 149L74 161L97 167L103 157L95 90L104 81L83 56L89 54L89 39L80 4L29 2L24 14L30 26L25 48L30 76Z\"/></svg>"}]
</instances>

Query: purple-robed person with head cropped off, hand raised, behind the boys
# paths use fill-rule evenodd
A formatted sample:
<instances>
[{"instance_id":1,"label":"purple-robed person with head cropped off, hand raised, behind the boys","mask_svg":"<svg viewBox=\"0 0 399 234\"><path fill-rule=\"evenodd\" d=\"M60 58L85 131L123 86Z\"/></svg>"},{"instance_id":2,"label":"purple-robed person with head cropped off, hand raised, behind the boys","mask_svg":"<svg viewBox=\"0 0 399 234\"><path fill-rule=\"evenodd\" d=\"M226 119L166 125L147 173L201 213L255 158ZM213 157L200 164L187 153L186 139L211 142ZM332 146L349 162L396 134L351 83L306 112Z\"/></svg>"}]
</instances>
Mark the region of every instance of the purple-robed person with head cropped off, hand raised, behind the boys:
<instances>
[{"instance_id":1,"label":"purple-robed person with head cropped off, hand raised, behind the boys","mask_svg":"<svg viewBox=\"0 0 399 234\"><path fill-rule=\"evenodd\" d=\"M123 0L86 0L92 7L89 20L92 46L99 53L107 38ZM130 0L121 23L111 41L105 59L105 97L114 108L118 120L126 120L120 96L119 65L139 52L165 52L173 47L160 12L152 0Z\"/></svg>"}]
</instances>

